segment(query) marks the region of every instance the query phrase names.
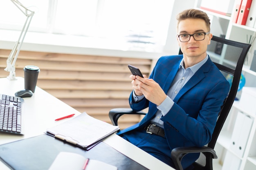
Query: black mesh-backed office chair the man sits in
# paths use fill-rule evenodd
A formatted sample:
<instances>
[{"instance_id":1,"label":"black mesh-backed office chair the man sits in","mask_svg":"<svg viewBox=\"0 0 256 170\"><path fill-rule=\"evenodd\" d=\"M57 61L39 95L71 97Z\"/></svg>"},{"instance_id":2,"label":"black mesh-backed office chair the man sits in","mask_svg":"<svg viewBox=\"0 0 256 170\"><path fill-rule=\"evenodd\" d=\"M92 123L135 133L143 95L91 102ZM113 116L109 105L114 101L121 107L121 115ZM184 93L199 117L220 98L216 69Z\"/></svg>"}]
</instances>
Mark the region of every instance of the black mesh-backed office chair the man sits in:
<instances>
[{"instance_id":1,"label":"black mesh-backed office chair the man sits in","mask_svg":"<svg viewBox=\"0 0 256 170\"><path fill-rule=\"evenodd\" d=\"M220 72L229 81L230 89L224 104L221 107L216 126L213 131L212 139L204 147L180 147L174 148L171 152L171 158L177 170L183 170L181 159L188 153L200 153L200 157L193 163L193 170L212 170L212 159L217 159L216 152L213 150L220 130L227 118L229 110L234 102L240 76L242 72L243 63L246 54L250 48L250 44L244 44L224 38L213 36L211 44L207 47L207 53L211 60L220 69ZM182 54L180 51L179 54ZM114 108L110 110L109 117L112 124L117 125L117 121L121 115L124 114L140 114L146 113L135 112L130 108Z\"/></svg>"}]
</instances>

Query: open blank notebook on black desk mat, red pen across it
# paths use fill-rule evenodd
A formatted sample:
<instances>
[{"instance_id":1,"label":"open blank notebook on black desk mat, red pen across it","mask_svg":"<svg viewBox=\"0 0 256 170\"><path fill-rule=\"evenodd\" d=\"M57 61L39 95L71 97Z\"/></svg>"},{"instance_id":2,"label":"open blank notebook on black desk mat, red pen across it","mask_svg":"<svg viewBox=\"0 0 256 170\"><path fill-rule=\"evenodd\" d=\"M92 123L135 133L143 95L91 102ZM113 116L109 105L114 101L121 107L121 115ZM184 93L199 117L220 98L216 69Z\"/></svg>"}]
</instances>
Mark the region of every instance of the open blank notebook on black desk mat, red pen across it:
<instances>
[{"instance_id":1,"label":"open blank notebook on black desk mat, red pen across it","mask_svg":"<svg viewBox=\"0 0 256 170\"><path fill-rule=\"evenodd\" d=\"M86 158L72 152L60 152L49 170L82 170ZM116 166L90 159L85 170L117 170Z\"/></svg>"}]
</instances>

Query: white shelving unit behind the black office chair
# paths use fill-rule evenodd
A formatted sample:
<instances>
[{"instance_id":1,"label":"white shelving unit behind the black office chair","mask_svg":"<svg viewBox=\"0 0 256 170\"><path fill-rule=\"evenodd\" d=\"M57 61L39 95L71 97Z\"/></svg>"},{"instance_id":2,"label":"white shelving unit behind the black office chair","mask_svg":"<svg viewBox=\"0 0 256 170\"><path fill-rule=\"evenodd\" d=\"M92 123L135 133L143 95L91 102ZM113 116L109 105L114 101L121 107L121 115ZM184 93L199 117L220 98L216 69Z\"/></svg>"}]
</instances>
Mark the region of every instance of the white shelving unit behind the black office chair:
<instances>
[{"instance_id":1,"label":"white shelving unit behind the black office chair","mask_svg":"<svg viewBox=\"0 0 256 170\"><path fill-rule=\"evenodd\" d=\"M195 0L194 8L200 9L200 4L201 0ZM233 11L235 11L235 6L236 0L234 3ZM233 13L231 13L231 16L226 16L211 11L202 11L206 12L211 19L211 33L213 33L213 35L225 35L226 39L243 43L248 43L248 38L250 36L256 36L255 28L233 23ZM242 71L246 81L245 86L249 87L256 87L256 72L250 70L254 50L256 50L255 42L252 44L247 54L247 60L244 63ZM215 60L223 60L223 62L225 62L225 57L220 56ZM232 65L232 63L229 64ZM240 95L241 91L238 91L238 97ZM255 101L253 102L256 103L256 95L254 97ZM236 150L232 148L232 145L234 145L232 137L237 132L235 132L234 128L236 128L236 126L241 123L240 120L237 121L236 119L240 116L240 114L245 115L247 118L249 117L249 120L252 122L252 126L249 128L250 130L247 130L247 132L249 132L249 137L246 140L247 142L243 154L241 154L241 152L236 152ZM251 110L246 109L246 106L241 104L240 101L235 101L227 117L227 120L225 121L222 131L220 132L215 150L218 155L218 159L213 160L214 170L256 169L256 112L254 113Z\"/></svg>"}]
</instances>

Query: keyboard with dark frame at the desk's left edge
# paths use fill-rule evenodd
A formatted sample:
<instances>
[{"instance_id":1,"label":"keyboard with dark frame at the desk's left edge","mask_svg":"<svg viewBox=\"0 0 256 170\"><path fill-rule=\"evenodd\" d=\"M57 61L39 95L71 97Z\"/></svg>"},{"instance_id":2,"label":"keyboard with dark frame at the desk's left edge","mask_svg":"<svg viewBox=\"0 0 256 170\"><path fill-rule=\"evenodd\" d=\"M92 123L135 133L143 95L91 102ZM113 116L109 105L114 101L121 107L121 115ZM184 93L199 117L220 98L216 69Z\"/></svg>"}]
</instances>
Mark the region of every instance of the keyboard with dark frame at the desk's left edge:
<instances>
[{"instance_id":1,"label":"keyboard with dark frame at the desk's left edge","mask_svg":"<svg viewBox=\"0 0 256 170\"><path fill-rule=\"evenodd\" d=\"M0 132L23 135L21 117L24 99L0 94Z\"/></svg>"}]
</instances>

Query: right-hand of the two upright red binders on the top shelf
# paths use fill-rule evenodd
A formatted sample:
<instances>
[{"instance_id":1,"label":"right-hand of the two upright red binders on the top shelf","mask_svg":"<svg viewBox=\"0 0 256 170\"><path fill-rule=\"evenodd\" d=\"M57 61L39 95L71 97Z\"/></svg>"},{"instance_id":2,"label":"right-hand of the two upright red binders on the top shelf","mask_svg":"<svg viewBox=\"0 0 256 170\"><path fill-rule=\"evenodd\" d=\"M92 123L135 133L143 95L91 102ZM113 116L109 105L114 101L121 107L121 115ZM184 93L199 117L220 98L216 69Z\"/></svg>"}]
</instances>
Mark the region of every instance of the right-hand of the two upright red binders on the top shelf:
<instances>
[{"instance_id":1,"label":"right-hand of the two upright red binders on the top shelf","mask_svg":"<svg viewBox=\"0 0 256 170\"><path fill-rule=\"evenodd\" d=\"M247 21L247 17L249 14L249 10L252 4L252 0L243 0L241 7L240 7L240 12L238 14L237 18L237 24L245 25Z\"/></svg>"}]
</instances>

